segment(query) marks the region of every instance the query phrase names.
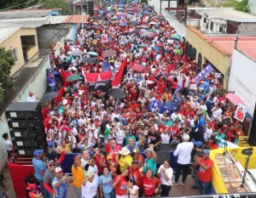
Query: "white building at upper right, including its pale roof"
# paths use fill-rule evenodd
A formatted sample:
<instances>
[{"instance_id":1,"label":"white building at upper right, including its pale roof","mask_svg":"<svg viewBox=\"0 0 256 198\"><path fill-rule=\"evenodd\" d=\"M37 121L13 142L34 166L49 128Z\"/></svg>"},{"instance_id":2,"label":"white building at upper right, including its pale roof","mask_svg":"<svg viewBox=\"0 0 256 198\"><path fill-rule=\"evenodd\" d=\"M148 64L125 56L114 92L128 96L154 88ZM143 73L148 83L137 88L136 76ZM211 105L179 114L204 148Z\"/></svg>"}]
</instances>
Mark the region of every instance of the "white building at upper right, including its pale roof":
<instances>
[{"instance_id":1,"label":"white building at upper right, including its pale roof","mask_svg":"<svg viewBox=\"0 0 256 198\"><path fill-rule=\"evenodd\" d=\"M256 3L256 1L255 1ZM234 10L234 8L216 8L198 12L201 14L200 29L207 34L223 34L227 31L227 20L236 19L255 19L253 14Z\"/></svg>"}]
</instances>

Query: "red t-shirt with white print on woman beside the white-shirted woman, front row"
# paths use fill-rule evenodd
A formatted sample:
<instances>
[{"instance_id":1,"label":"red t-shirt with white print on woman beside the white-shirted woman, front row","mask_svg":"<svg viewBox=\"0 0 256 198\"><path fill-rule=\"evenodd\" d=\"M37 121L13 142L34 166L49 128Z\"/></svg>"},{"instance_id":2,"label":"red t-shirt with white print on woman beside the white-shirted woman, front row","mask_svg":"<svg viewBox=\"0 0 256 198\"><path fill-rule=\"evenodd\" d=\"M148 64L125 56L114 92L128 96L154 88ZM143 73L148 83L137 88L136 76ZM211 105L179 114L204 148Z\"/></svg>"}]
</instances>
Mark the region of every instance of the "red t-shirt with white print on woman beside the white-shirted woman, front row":
<instances>
[{"instance_id":1,"label":"red t-shirt with white print on woman beside the white-shirted woman, front row","mask_svg":"<svg viewBox=\"0 0 256 198\"><path fill-rule=\"evenodd\" d=\"M154 190L156 185L160 185L161 181L159 178L151 178L150 180L143 175L143 190L145 197L155 197Z\"/></svg>"}]
</instances>

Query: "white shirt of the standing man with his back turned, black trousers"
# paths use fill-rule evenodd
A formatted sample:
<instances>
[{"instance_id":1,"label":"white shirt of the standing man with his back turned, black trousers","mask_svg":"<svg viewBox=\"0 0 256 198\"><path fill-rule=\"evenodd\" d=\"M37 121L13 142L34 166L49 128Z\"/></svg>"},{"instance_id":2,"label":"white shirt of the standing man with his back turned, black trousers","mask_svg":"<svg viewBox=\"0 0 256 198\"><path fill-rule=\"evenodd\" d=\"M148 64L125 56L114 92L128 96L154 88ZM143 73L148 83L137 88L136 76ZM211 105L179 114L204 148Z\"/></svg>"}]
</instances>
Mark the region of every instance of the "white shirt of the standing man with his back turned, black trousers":
<instances>
[{"instance_id":1,"label":"white shirt of the standing man with his back turned, black trousers","mask_svg":"<svg viewBox=\"0 0 256 198\"><path fill-rule=\"evenodd\" d=\"M193 142L183 142L177 144L177 148L173 153L173 156L177 156L177 163L189 164L191 161L191 151L194 149Z\"/></svg>"}]
</instances>

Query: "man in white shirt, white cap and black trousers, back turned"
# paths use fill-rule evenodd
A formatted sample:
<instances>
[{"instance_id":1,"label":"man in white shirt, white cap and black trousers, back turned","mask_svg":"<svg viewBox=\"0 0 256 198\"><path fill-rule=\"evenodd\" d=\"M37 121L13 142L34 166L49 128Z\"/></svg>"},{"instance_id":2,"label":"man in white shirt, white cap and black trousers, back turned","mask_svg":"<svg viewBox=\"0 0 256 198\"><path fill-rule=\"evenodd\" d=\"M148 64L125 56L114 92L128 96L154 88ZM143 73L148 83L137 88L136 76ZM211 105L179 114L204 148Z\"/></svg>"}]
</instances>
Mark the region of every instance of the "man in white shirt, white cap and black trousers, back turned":
<instances>
[{"instance_id":1,"label":"man in white shirt, white cap and black trousers, back turned","mask_svg":"<svg viewBox=\"0 0 256 198\"><path fill-rule=\"evenodd\" d=\"M189 142L189 134L183 133L183 143L177 144L177 149L173 153L173 156L177 156L177 169L174 180L175 185L178 185L178 178L182 170L183 178L181 180L181 185L185 184L186 178L189 174L191 152L193 149L194 144Z\"/></svg>"}]
</instances>

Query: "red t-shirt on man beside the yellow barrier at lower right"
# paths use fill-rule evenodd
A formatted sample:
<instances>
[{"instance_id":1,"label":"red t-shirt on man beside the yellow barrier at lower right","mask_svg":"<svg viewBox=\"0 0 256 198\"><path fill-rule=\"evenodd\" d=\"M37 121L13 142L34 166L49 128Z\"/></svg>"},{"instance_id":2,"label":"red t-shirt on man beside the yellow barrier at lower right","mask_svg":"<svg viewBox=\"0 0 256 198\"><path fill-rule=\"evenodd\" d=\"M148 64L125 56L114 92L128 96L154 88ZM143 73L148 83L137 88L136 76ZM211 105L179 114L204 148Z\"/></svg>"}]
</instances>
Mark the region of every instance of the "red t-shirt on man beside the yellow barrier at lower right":
<instances>
[{"instance_id":1,"label":"red t-shirt on man beside the yellow barrier at lower right","mask_svg":"<svg viewBox=\"0 0 256 198\"><path fill-rule=\"evenodd\" d=\"M212 180L212 167L213 167L213 161L208 158L205 160L203 157L200 158L200 161L202 164L207 165L210 167L209 169L204 169L203 167L199 167L199 173L198 178L203 182L209 182Z\"/></svg>"}]
</instances>

